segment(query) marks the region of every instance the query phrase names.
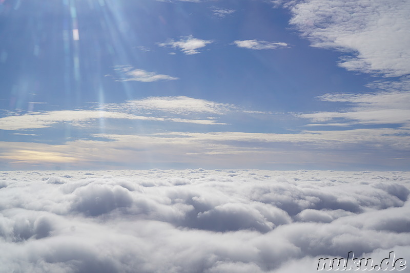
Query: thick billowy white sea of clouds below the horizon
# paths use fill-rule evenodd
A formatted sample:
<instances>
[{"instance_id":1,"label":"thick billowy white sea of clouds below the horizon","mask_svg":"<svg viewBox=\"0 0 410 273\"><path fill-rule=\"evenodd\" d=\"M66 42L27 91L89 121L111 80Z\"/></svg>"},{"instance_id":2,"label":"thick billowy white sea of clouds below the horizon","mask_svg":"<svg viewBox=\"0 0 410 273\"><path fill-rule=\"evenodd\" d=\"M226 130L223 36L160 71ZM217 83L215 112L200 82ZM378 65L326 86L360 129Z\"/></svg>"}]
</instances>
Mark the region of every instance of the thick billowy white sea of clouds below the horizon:
<instances>
[{"instance_id":1,"label":"thick billowy white sea of clouds below the horizon","mask_svg":"<svg viewBox=\"0 0 410 273\"><path fill-rule=\"evenodd\" d=\"M348 251L410 261L409 190L410 172L3 172L0 272L317 272Z\"/></svg>"}]
</instances>

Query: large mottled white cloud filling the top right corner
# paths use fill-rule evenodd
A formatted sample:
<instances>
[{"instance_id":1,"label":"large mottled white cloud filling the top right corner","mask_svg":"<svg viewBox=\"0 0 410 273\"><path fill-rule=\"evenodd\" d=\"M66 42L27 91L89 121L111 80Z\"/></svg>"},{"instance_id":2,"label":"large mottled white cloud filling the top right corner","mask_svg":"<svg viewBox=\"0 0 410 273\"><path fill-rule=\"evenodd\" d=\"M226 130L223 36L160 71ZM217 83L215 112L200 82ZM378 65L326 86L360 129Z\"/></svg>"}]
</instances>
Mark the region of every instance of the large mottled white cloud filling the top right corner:
<instances>
[{"instance_id":1,"label":"large mottled white cloud filling the top right corner","mask_svg":"<svg viewBox=\"0 0 410 273\"><path fill-rule=\"evenodd\" d=\"M308 0L289 7L290 23L312 46L349 53L341 67L388 77L410 73L408 1Z\"/></svg>"}]
</instances>

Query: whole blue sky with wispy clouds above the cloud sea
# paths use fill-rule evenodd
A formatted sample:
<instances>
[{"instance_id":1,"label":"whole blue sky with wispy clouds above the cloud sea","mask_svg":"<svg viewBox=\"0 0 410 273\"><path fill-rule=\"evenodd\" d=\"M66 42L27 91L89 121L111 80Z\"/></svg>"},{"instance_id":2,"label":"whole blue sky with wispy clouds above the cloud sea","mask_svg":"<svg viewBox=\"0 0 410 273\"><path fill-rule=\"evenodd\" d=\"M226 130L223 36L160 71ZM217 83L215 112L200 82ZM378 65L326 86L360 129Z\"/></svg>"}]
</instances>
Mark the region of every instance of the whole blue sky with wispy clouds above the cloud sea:
<instances>
[{"instance_id":1,"label":"whole blue sky with wispy clouds above the cloud sea","mask_svg":"<svg viewBox=\"0 0 410 273\"><path fill-rule=\"evenodd\" d=\"M0 168L409 170L409 12L0 0Z\"/></svg>"}]
</instances>

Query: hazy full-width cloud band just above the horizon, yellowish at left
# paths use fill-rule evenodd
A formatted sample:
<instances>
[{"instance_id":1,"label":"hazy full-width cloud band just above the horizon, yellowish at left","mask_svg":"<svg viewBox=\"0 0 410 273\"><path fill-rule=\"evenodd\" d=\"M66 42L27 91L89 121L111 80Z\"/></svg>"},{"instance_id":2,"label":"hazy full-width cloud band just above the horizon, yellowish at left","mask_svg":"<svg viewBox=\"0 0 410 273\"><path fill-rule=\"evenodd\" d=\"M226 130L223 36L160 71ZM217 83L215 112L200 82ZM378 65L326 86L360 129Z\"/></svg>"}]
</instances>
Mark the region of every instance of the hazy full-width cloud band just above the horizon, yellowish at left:
<instances>
[{"instance_id":1,"label":"hazy full-width cloud band just above the horizon, yellowish at left","mask_svg":"<svg viewBox=\"0 0 410 273\"><path fill-rule=\"evenodd\" d=\"M306 130L288 134L110 132L61 144L3 141L0 159L2 164L17 169L33 166L48 169L55 165L72 169L113 166L127 169L151 164L167 168L275 164L289 169L320 164L326 169L379 169L383 165L385 169L401 170L409 163L406 155L410 151L410 136L405 129Z\"/></svg>"}]
</instances>

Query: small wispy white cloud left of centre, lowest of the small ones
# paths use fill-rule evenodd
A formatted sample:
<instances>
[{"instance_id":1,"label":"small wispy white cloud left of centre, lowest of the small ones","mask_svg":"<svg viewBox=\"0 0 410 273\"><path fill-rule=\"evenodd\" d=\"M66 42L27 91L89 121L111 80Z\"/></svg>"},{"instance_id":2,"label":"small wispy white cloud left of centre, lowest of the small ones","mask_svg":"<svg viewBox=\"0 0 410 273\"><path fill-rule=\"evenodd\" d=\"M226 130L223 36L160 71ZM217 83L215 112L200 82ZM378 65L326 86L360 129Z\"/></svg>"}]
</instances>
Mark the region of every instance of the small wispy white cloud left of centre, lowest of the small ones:
<instances>
[{"instance_id":1,"label":"small wispy white cloud left of centre, lowest of the small ones","mask_svg":"<svg viewBox=\"0 0 410 273\"><path fill-rule=\"evenodd\" d=\"M155 72L147 72L142 69L134 69L132 66L117 66L116 71L125 73L127 78L117 78L117 81L142 81L153 82L159 80L177 80L179 78L163 74L156 74Z\"/></svg>"}]
</instances>

